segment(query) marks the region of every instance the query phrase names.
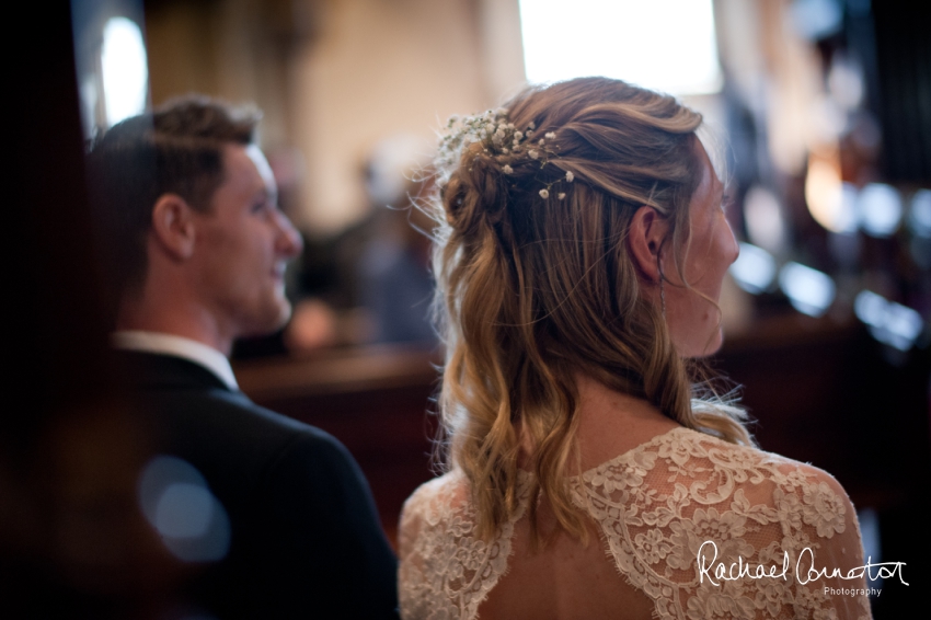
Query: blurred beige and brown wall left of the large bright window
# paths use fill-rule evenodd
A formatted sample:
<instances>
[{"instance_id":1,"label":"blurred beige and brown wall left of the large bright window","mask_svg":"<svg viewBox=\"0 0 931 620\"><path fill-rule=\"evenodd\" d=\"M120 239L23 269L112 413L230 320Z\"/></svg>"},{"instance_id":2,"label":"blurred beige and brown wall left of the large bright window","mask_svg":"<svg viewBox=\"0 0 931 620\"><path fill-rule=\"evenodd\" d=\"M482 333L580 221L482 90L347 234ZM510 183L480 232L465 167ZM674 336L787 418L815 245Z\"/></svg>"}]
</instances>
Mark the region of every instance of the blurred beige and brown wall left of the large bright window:
<instances>
[{"instance_id":1,"label":"blurred beige and brown wall left of the large bright window","mask_svg":"<svg viewBox=\"0 0 931 620\"><path fill-rule=\"evenodd\" d=\"M302 169L291 215L318 233L366 213L360 169L379 140L433 140L524 82L517 0L150 0L146 30L152 102L254 101L263 147Z\"/></svg>"}]
</instances>

